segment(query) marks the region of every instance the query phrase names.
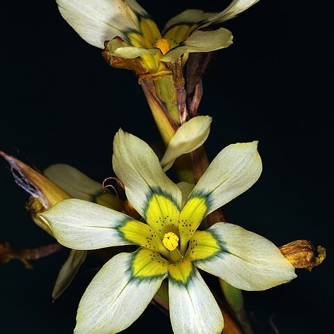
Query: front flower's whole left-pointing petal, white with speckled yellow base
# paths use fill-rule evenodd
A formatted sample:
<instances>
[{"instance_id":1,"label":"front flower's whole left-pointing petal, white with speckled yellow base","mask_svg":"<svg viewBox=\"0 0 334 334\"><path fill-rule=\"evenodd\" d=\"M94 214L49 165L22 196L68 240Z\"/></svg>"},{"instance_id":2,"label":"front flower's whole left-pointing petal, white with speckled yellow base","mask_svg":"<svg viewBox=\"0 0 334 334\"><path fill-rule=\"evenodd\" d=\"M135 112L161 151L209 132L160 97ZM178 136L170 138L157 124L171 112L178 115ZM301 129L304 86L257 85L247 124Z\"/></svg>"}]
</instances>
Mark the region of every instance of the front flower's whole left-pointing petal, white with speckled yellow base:
<instances>
[{"instance_id":1,"label":"front flower's whole left-pointing petal, white with speckled yellow base","mask_svg":"<svg viewBox=\"0 0 334 334\"><path fill-rule=\"evenodd\" d=\"M86 200L63 200L39 217L59 243L68 248L90 250L138 245L166 252L157 232L149 225Z\"/></svg>"}]
</instances>

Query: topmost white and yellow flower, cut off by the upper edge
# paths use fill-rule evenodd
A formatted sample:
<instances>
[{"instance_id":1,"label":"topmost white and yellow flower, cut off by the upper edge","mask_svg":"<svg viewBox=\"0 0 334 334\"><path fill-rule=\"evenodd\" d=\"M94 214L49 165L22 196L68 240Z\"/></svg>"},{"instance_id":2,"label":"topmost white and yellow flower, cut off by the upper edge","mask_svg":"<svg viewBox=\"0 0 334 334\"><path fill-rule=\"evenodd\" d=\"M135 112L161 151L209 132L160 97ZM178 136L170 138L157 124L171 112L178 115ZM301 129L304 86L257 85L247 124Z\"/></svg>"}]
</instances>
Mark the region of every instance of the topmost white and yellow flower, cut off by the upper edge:
<instances>
[{"instance_id":1,"label":"topmost white and yellow flower, cut off by the upper edge","mask_svg":"<svg viewBox=\"0 0 334 334\"><path fill-rule=\"evenodd\" d=\"M253 6L258 0L234 0L220 13L185 10L170 19L162 32L135 0L57 0L61 15L79 35L115 67L143 76L164 75L169 62L183 54L208 52L232 44L224 28L203 31ZM138 59L135 59L139 57Z\"/></svg>"}]
</instances>

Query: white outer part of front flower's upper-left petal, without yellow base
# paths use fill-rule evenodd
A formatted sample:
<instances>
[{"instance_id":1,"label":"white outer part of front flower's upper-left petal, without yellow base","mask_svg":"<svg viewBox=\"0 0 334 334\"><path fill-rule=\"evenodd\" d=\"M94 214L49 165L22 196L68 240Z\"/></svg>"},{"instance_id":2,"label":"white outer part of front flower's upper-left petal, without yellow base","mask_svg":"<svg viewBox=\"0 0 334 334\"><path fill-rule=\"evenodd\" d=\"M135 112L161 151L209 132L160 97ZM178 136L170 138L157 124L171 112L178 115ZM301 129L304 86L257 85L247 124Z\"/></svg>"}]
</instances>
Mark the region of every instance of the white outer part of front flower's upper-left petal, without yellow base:
<instances>
[{"instance_id":1,"label":"white outer part of front flower's upper-left petal, without yellow base","mask_svg":"<svg viewBox=\"0 0 334 334\"><path fill-rule=\"evenodd\" d=\"M113 170L125 185L129 202L143 218L154 194L163 194L180 208L181 191L168 179L153 150L121 129L113 141Z\"/></svg>"}]
</instances>

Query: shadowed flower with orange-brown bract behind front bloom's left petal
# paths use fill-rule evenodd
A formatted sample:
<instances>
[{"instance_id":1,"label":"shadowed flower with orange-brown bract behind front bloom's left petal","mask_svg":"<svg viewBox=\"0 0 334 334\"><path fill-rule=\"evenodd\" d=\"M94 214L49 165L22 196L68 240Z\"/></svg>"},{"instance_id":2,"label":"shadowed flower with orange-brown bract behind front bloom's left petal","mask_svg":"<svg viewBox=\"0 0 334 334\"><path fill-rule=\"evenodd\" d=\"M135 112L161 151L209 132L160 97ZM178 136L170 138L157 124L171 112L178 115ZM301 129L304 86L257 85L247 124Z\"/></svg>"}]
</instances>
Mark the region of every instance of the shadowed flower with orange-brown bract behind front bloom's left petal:
<instances>
[{"instance_id":1,"label":"shadowed flower with orange-brown bract behind front bloom's left petal","mask_svg":"<svg viewBox=\"0 0 334 334\"><path fill-rule=\"evenodd\" d=\"M66 198L80 198L97 202L106 207L121 210L118 198L111 193L103 192L100 183L95 182L81 173L77 168L65 164L56 164L49 166L44 175L35 170L19 159L0 151L0 156L6 159L12 168L15 182L21 186L31 197L26 205L31 218L42 230L54 234L49 227L38 218L40 212L44 212L57 202ZM74 276L79 271L81 264L86 259L86 250L70 251L67 260L58 273L56 283L52 292L52 298L55 300L70 286Z\"/></svg>"}]
</instances>

